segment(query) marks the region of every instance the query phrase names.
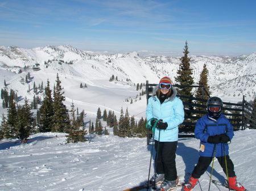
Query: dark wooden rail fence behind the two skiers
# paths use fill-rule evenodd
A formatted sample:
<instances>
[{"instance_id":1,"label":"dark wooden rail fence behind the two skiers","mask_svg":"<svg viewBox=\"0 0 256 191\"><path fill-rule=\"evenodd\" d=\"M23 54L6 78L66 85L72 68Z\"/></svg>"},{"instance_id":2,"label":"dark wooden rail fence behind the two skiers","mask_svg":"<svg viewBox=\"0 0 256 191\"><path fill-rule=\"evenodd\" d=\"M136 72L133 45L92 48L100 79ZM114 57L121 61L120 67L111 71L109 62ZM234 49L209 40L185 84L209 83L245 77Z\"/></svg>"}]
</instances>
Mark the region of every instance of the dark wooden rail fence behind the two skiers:
<instances>
[{"instance_id":1,"label":"dark wooden rail fence behind the two skiers","mask_svg":"<svg viewBox=\"0 0 256 191\"><path fill-rule=\"evenodd\" d=\"M155 86L158 84L150 84L148 80L146 81L146 95L147 101L148 98L152 96L152 91ZM202 88L202 97L207 95L209 98L209 94L205 91L203 86L179 86L173 85L174 87L196 87ZM195 129L196 121L202 117L204 114L207 114L207 100L208 99L200 99L196 97L188 97L177 95L181 100L192 100L192 103L187 103L183 101L183 105L185 107L185 119L182 124L179 125L179 138L180 137L195 137L193 131ZM200 104L199 104L200 103ZM241 104L239 103L228 103L224 102L224 107L222 108L222 112L224 115L229 118L231 124L234 127L234 130L244 130L245 128L253 128L256 129L256 112L255 107L248 103L245 100L245 96L243 96L243 100ZM189 107L193 109L187 109ZM147 144L152 137L150 130L147 132Z\"/></svg>"}]
</instances>

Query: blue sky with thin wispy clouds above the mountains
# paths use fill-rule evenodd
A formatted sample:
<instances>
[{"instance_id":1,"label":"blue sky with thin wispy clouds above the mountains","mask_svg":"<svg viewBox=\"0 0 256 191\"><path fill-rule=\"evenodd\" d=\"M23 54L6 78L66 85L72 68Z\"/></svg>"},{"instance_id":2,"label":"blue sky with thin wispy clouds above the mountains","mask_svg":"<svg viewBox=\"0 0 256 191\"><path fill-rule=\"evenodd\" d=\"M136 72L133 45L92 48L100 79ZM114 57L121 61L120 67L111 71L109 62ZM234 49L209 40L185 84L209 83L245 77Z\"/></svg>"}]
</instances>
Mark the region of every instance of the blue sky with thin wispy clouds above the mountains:
<instances>
[{"instance_id":1,"label":"blue sky with thin wispy clouds above the mountains","mask_svg":"<svg viewBox=\"0 0 256 191\"><path fill-rule=\"evenodd\" d=\"M255 0L0 0L0 45L93 52L240 56L256 52Z\"/></svg>"}]
</instances>

